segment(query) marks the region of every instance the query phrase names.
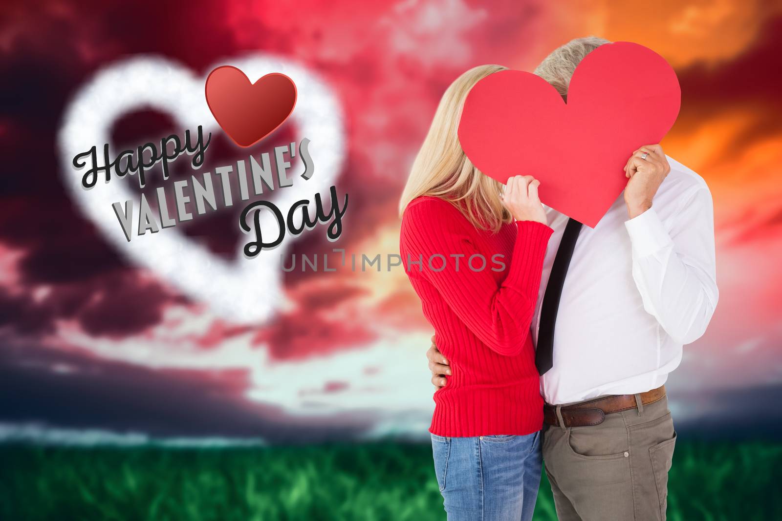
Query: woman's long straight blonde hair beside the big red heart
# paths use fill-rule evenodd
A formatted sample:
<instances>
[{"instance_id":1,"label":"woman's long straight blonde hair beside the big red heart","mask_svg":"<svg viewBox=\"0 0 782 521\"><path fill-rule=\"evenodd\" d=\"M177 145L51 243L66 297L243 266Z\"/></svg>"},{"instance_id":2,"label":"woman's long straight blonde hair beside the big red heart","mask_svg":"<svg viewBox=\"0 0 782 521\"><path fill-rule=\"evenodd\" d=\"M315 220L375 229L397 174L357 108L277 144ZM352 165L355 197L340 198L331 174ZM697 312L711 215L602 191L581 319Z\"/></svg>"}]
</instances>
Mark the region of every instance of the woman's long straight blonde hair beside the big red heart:
<instances>
[{"instance_id":1,"label":"woman's long straight blonde hair beside the big red heart","mask_svg":"<svg viewBox=\"0 0 782 521\"><path fill-rule=\"evenodd\" d=\"M511 221L511 214L500 201L502 184L475 168L457 135L470 89L482 78L505 69L500 65L473 67L447 88L407 178L399 202L400 215L414 198L430 195L455 205L482 230L497 231Z\"/></svg>"}]
</instances>

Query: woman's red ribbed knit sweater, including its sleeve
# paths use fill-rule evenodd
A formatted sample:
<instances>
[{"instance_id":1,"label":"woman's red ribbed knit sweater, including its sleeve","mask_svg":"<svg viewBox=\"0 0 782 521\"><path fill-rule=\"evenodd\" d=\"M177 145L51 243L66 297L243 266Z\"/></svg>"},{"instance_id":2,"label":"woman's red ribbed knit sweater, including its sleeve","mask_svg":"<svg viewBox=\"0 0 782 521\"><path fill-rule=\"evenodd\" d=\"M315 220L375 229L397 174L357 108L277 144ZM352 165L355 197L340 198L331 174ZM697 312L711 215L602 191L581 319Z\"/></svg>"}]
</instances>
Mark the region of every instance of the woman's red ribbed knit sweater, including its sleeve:
<instances>
[{"instance_id":1,"label":"woman's red ribbed knit sweater, including its sleeve","mask_svg":"<svg viewBox=\"0 0 782 521\"><path fill-rule=\"evenodd\" d=\"M551 231L519 221L493 234L443 199L407 205L402 262L452 372L434 394L432 434L530 434L543 426L529 323Z\"/></svg>"}]
</instances>

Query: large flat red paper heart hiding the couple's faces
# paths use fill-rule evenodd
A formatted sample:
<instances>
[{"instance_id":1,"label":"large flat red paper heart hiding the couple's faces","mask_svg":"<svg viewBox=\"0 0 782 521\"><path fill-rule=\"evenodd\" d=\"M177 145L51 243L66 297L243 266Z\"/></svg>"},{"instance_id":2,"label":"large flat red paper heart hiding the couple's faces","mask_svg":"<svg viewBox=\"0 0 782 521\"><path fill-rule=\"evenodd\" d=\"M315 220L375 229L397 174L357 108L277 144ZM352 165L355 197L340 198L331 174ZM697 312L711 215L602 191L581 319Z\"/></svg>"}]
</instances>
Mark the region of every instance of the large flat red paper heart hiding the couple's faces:
<instances>
[{"instance_id":1,"label":"large flat red paper heart hiding the couple's faces","mask_svg":"<svg viewBox=\"0 0 782 521\"><path fill-rule=\"evenodd\" d=\"M465 101L459 141L483 173L532 175L544 204L595 227L627 184L630 154L673 127L681 89L662 56L619 41L579 63L567 100L532 73L490 74Z\"/></svg>"}]
</instances>

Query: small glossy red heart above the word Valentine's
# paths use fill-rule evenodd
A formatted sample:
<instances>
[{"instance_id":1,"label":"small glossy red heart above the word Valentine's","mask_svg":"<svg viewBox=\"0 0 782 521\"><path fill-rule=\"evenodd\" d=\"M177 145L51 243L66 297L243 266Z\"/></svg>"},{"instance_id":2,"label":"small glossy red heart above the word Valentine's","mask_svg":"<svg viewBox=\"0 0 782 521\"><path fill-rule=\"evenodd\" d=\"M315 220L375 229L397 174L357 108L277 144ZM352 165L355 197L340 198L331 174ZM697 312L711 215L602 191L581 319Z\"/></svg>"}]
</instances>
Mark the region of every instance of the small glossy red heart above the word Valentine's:
<instances>
[{"instance_id":1,"label":"small glossy red heart above the word Valentine's","mask_svg":"<svg viewBox=\"0 0 782 521\"><path fill-rule=\"evenodd\" d=\"M271 73L251 84L234 66L220 66L206 77L206 103L214 119L240 147L255 145L285 123L296 106L296 84Z\"/></svg>"}]
</instances>

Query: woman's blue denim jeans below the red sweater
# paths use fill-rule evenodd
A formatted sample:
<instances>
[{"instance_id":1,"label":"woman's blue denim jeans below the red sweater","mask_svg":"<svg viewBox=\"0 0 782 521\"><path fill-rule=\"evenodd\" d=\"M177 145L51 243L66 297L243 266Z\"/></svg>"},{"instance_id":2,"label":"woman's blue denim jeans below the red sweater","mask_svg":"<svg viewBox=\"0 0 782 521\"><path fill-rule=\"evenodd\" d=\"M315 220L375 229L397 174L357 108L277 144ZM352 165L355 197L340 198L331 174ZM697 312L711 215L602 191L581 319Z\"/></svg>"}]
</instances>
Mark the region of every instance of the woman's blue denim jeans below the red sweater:
<instances>
[{"instance_id":1,"label":"woman's blue denim jeans below the red sweater","mask_svg":"<svg viewBox=\"0 0 782 521\"><path fill-rule=\"evenodd\" d=\"M540 432L526 436L432 434L448 521L529 521L540 485Z\"/></svg>"}]
</instances>

